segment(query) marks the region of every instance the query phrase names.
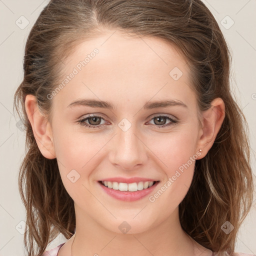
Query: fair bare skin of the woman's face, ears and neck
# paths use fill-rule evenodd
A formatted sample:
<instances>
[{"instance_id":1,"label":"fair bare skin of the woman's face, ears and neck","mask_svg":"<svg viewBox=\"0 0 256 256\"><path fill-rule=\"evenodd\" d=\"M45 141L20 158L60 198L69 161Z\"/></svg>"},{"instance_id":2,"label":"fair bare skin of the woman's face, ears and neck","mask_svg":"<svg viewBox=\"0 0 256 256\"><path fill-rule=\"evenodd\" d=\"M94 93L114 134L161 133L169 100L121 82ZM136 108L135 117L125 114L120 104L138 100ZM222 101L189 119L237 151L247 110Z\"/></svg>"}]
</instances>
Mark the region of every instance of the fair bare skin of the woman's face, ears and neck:
<instances>
[{"instance_id":1,"label":"fair bare skin of the woman's face, ears and neck","mask_svg":"<svg viewBox=\"0 0 256 256\"><path fill-rule=\"evenodd\" d=\"M178 204L191 184L194 161L157 198L145 196L127 202L102 191L97 181L109 177L147 177L160 182L154 194L199 149L200 159L212 146L224 118L224 103L216 98L211 108L197 118L197 103L186 60L176 48L160 38L129 37L105 30L98 37L77 44L64 60L63 76L94 48L92 58L51 100L52 120L38 110L34 96L25 99L26 112L41 153L57 158L65 189L74 200L76 234L59 250L69 255L211 255L209 249L191 239L181 228ZM110 37L109 37L110 36ZM104 43L103 43L104 42ZM102 44L103 43L103 44ZM182 75L174 80L169 72L178 67ZM115 109L68 105L81 98L100 99ZM147 101L174 99L187 107L143 109ZM101 128L87 128L77 120L89 113ZM153 115L167 114L178 123L159 128ZM126 131L118 123L126 118ZM89 122L90 121L90 122ZM86 123L93 125L93 120ZM94 125L97 125L94 124ZM80 178L72 183L67 175L75 169ZM124 234L118 226L126 221ZM95 254L97 253L97 254Z\"/></svg>"}]
</instances>

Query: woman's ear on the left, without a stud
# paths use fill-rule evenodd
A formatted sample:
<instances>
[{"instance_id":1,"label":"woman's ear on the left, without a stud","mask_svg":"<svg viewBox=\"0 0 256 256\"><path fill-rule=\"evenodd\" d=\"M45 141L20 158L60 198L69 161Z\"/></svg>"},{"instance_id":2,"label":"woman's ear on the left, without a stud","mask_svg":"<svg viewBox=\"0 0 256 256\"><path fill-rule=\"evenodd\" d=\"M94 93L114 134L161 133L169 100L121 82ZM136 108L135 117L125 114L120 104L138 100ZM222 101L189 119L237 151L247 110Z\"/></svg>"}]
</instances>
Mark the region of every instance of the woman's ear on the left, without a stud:
<instances>
[{"instance_id":1,"label":"woman's ear on the left, without a stud","mask_svg":"<svg viewBox=\"0 0 256 256\"><path fill-rule=\"evenodd\" d=\"M48 159L56 158L50 122L40 112L34 95L26 95L25 110L40 152Z\"/></svg>"}]
</instances>

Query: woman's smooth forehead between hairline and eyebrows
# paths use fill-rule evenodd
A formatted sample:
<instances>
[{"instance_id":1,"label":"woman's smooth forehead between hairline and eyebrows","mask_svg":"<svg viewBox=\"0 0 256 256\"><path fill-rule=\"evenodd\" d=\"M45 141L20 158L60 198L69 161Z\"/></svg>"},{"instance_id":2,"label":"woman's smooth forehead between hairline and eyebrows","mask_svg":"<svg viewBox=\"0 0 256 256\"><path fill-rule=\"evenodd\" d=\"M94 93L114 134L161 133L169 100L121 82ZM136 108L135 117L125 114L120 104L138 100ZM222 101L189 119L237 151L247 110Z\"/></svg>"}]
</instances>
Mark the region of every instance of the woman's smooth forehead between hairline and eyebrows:
<instances>
[{"instance_id":1,"label":"woman's smooth forehead between hairline and eyebrows","mask_svg":"<svg viewBox=\"0 0 256 256\"><path fill-rule=\"evenodd\" d=\"M82 96L117 105L123 99L134 102L134 96L143 101L191 98L188 65L176 46L161 38L130 36L118 30L79 42L64 60L60 82L64 86L56 98L61 96L59 102L65 106Z\"/></svg>"}]
</instances>

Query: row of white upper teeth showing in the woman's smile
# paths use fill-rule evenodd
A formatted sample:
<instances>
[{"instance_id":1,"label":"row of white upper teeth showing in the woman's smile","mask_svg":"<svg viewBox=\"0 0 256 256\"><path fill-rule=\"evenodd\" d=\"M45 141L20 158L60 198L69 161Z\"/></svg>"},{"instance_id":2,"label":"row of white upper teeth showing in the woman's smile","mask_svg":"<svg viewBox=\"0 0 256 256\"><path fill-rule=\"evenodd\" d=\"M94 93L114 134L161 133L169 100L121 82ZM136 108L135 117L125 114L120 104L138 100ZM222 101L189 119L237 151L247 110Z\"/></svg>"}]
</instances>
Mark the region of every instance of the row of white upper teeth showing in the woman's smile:
<instances>
[{"instance_id":1,"label":"row of white upper teeth showing in the woman's smile","mask_svg":"<svg viewBox=\"0 0 256 256\"><path fill-rule=\"evenodd\" d=\"M139 181L138 183L133 182L133 183L123 183L123 182L116 182L116 181L101 181L101 183L108 187L108 188L112 188L115 190L120 190L120 191L137 191L137 190L142 190L142 189L146 189L150 186L153 185L153 181Z\"/></svg>"}]
</instances>

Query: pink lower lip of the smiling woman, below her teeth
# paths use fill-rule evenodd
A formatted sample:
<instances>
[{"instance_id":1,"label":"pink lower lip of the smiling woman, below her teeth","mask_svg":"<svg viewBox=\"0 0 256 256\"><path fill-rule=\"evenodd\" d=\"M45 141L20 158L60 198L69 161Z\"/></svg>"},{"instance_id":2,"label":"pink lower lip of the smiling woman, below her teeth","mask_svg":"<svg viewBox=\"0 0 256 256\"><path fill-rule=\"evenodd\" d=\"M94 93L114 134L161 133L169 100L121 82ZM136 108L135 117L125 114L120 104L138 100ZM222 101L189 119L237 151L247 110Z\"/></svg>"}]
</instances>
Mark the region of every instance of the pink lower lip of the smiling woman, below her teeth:
<instances>
[{"instance_id":1,"label":"pink lower lip of the smiling woman, below her teeth","mask_svg":"<svg viewBox=\"0 0 256 256\"><path fill-rule=\"evenodd\" d=\"M115 190L115 189L108 188L108 187L104 186L101 183L101 181L99 181L98 183L107 194L109 194L110 196L112 196L118 200L136 201L136 200L139 200L139 199L145 197L150 192L152 192L153 189L156 187L156 185L159 183L159 181L156 181L153 185L151 185L150 187L148 187L146 189L137 190L134 192Z\"/></svg>"}]
</instances>

